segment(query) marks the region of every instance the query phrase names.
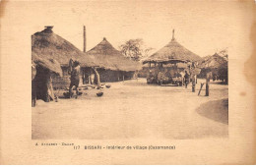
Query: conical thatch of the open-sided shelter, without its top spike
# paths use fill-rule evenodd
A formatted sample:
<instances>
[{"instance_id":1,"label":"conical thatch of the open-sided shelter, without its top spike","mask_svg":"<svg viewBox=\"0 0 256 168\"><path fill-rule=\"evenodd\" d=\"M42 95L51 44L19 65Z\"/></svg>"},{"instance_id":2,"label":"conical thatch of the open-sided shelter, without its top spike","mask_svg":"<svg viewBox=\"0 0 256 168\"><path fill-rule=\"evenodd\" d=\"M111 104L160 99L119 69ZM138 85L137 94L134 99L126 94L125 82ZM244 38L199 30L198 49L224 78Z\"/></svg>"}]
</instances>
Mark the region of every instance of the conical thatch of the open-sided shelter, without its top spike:
<instances>
[{"instance_id":1,"label":"conical thatch of the open-sided shelter, without its top spike","mask_svg":"<svg viewBox=\"0 0 256 168\"><path fill-rule=\"evenodd\" d=\"M173 37L171 41L161 48L158 52L148 57L147 62L195 62L202 58L195 53L189 51L184 46L179 44Z\"/></svg>"}]
</instances>

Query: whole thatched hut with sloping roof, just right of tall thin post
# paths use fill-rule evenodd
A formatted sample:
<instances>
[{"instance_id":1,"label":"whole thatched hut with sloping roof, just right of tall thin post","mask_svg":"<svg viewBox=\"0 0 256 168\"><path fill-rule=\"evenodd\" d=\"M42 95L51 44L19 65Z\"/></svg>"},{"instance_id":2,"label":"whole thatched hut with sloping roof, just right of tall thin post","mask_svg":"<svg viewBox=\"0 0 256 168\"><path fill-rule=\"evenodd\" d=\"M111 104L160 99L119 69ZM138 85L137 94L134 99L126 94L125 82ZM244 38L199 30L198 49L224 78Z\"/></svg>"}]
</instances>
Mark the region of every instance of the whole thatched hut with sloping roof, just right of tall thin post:
<instances>
[{"instance_id":1,"label":"whole thatched hut with sloping roof, just right of tall thin post","mask_svg":"<svg viewBox=\"0 0 256 168\"><path fill-rule=\"evenodd\" d=\"M139 62L126 58L103 38L93 49L87 52L99 64L97 72L101 82L118 82L133 78L142 65Z\"/></svg>"}]
</instances>

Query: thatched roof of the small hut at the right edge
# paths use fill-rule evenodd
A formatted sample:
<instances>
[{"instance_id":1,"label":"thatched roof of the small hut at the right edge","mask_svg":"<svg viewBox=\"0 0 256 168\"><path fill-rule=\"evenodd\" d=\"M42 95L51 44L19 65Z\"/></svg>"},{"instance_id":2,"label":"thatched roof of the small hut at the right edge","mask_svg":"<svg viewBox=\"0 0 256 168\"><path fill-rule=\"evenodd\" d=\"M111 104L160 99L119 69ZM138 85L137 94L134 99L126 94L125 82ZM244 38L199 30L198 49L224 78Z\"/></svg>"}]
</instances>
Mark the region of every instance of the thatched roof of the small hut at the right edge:
<instances>
[{"instance_id":1,"label":"thatched roof of the small hut at the right edge","mask_svg":"<svg viewBox=\"0 0 256 168\"><path fill-rule=\"evenodd\" d=\"M225 64L227 65L227 61L224 59L224 57L215 53L213 56L207 56L199 66L205 69L216 69L225 66Z\"/></svg>"}]
</instances>

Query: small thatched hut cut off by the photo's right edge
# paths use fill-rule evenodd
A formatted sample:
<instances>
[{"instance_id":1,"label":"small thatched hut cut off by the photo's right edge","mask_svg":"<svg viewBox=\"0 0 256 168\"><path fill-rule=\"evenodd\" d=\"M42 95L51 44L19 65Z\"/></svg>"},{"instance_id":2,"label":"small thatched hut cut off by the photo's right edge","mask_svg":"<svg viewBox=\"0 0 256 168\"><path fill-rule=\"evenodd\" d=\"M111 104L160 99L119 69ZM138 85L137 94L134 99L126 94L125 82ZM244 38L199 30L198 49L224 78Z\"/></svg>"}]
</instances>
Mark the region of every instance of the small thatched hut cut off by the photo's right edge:
<instances>
[{"instance_id":1,"label":"small thatched hut cut off by the photo's right edge","mask_svg":"<svg viewBox=\"0 0 256 168\"><path fill-rule=\"evenodd\" d=\"M213 81L222 80L227 83L227 61L218 53L205 57L199 67L202 69L200 78L205 78L206 74L211 72Z\"/></svg>"}]
</instances>

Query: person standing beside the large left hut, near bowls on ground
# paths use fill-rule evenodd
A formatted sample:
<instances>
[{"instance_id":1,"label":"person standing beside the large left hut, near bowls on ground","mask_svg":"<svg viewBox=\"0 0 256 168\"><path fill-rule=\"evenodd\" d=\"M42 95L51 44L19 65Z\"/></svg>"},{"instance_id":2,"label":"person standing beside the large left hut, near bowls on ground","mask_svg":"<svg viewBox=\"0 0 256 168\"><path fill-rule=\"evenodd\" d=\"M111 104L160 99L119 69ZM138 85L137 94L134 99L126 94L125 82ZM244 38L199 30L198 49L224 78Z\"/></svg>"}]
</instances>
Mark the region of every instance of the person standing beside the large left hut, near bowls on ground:
<instances>
[{"instance_id":1,"label":"person standing beside the large left hut, near bowls on ground","mask_svg":"<svg viewBox=\"0 0 256 168\"><path fill-rule=\"evenodd\" d=\"M78 95L78 85L79 85L79 75L80 75L80 65L78 61L75 61L72 66L71 78L70 78L70 86L69 86L69 96L72 97L72 88L75 85L76 93Z\"/></svg>"}]
</instances>

